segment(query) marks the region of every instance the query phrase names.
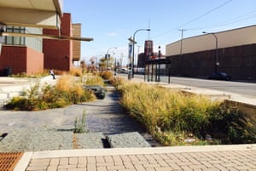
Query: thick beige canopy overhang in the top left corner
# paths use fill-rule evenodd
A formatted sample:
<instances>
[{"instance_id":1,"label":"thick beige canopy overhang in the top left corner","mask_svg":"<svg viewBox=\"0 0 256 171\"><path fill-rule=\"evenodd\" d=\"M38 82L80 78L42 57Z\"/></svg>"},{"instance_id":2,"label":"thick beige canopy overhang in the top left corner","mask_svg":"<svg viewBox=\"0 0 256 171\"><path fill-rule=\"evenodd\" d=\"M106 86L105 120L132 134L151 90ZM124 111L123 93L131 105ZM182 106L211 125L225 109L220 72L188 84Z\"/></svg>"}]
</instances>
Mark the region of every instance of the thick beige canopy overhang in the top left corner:
<instances>
[{"instance_id":1,"label":"thick beige canopy overhang in the top left corner","mask_svg":"<svg viewBox=\"0 0 256 171\"><path fill-rule=\"evenodd\" d=\"M0 22L9 26L56 29L61 15L62 0L0 0Z\"/></svg>"}]
</instances>

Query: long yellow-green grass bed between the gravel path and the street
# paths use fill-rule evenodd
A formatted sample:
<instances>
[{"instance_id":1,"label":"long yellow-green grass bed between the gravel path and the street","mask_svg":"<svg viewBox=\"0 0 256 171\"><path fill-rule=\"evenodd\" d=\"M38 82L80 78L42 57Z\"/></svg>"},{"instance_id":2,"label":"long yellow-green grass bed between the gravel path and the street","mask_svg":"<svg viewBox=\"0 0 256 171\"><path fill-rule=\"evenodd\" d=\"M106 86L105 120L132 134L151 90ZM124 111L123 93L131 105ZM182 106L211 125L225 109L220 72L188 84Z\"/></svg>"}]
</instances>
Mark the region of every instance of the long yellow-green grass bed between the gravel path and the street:
<instances>
[{"instance_id":1,"label":"long yellow-green grass bed between the gravel path and the street","mask_svg":"<svg viewBox=\"0 0 256 171\"><path fill-rule=\"evenodd\" d=\"M121 105L164 145L255 142L256 120L224 101L145 83L117 88Z\"/></svg>"}]
</instances>

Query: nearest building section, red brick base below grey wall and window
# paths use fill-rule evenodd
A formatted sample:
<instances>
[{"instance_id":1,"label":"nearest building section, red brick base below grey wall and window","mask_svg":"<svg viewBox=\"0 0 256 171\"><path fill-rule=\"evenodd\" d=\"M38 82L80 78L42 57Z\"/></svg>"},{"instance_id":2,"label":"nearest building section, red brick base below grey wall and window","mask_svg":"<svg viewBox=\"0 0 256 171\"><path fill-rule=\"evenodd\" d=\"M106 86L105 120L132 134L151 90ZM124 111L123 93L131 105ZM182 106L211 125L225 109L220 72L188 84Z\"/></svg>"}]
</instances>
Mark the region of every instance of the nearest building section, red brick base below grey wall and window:
<instances>
[{"instance_id":1,"label":"nearest building section, red brick base below grey wall and window","mask_svg":"<svg viewBox=\"0 0 256 171\"><path fill-rule=\"evenodd\" d=\"M40 28L7 26L8 32L42 33ZM34 74L44 69L42 38L4 37L0 55L0 72L2 76L26 73ZM6 73L9 70L9 73Z\"/></svg>"}]
</instances>

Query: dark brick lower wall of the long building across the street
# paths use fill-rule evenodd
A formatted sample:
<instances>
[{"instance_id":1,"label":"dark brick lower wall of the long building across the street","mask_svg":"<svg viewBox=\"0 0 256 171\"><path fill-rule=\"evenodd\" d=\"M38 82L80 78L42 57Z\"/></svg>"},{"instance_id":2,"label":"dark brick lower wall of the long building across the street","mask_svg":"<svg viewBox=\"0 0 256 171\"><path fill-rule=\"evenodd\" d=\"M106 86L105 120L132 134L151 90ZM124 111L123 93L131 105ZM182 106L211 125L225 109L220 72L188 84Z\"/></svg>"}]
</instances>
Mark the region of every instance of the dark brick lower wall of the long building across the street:
<instances>
[{"instance_id":1,"label":"dark brick lower wall of the long building across the street","mask_svg":"<svg viewBox=\"0 0 256 171\"><path fill-rule=\"evenodd\" d=\"M168 56L172 76L206 77L214 72L215 50ZM256 44L218 49L219 66L233 79L256 80Z\"/></svg>"}]
</instances>

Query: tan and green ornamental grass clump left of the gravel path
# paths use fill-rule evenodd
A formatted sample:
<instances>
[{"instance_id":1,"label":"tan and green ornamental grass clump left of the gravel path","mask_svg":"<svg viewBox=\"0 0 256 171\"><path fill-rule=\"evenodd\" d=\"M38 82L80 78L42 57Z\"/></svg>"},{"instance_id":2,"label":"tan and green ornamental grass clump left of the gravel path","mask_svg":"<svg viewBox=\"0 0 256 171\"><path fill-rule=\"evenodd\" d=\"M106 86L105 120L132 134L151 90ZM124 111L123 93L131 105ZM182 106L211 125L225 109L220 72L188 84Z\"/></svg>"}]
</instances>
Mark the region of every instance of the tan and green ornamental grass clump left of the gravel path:
<instances>
[{"instance_id":1,"label":"tan and green ornamental grass clump left of the gravel path","mask_svg":"<svg viewBox=\"0 0 256 171\"><path fill-rule=\"evenodd\" d=\"M30 88L26 96L15 97L5 108L16 111L38 111L65 107L85 101L96 100L95 94L82 88L82 83L73 76L64 75L58 78L55 86L40 87L36 84Z\"/></svg>"}]
</instances>

